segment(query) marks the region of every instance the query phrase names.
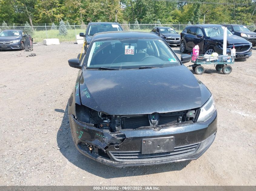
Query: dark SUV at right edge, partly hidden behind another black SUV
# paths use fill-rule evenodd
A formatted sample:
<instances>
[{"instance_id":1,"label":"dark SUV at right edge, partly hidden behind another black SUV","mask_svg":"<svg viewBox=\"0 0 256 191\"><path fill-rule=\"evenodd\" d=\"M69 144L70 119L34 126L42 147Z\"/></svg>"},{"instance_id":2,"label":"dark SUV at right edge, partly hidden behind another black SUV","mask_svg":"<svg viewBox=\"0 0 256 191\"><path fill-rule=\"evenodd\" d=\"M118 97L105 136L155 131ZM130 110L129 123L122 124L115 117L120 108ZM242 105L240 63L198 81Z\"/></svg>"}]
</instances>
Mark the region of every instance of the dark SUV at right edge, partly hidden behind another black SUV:
<instances>
[{"instance_id":1,"label":"dark SUV at right edge, partly hidden behind another black SUV","mask_svg":"<svg viewBox=\"0 0 256 191\"><path fill-rule=\"evenodd\" d=\"M249 30L247 27L241 24L222 24L227 27L231 33L239 37L243 37L252 43L252 46L256 46L256 33Z\"/></svg>"}]
</instances>

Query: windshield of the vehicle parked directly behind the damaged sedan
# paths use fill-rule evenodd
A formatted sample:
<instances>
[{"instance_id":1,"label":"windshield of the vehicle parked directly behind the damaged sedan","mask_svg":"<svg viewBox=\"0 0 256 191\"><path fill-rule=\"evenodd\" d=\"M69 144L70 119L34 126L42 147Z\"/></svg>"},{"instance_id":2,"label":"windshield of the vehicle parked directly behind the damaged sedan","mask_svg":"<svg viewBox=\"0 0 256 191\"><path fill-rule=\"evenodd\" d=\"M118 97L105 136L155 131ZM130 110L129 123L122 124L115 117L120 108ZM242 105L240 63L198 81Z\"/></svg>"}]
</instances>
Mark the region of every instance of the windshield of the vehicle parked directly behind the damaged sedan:
<instances>
[{"instance_id":1,"label":"windshield of the vehicle parked directly behind the damaged sedan","mask_svg":"<svg viewBox=\"0 0 256 191\"><path fill-rule=\"evenodd\" d=\"M95 33L108 32L108 31L120 31L122 30L118 24L91 24L89 26L88 35L94 35Z\"/></svg>"}]
</instances>

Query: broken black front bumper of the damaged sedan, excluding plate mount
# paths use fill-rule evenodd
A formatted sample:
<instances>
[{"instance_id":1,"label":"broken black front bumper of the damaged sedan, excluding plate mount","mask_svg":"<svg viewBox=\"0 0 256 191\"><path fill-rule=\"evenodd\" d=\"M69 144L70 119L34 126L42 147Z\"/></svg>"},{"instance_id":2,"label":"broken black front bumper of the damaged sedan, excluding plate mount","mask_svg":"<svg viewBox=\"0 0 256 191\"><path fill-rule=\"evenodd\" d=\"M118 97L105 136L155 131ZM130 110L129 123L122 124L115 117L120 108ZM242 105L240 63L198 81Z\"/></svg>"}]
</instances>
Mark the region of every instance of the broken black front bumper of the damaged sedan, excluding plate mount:
<instances>
[{"instance_id":1,"label":"broken black front bumper of the damaged sedan, excluding plate mount","mask_svg":"<svg viewBox=\"0 0 256 191\"><path fill-rule=\"evenodd\" d=\"M132 129L105 132L77 121L73 115L69 115L69 122L75 146L85 156L113 167L144 166L199 158L216 136L217 111L204 122L165 127L158 131ZM142 139L172 136L175 138L174 151L141 154Z\"/></svg>"}]
</instances>

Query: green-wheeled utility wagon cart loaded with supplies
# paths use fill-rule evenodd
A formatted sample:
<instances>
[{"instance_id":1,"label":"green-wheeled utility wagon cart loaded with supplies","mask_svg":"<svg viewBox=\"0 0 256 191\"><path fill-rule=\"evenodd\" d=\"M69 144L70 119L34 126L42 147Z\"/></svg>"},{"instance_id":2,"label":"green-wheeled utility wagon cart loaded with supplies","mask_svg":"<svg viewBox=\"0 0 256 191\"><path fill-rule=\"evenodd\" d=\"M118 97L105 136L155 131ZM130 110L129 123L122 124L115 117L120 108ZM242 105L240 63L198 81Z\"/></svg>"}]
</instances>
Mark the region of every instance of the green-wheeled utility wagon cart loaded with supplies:
<instances>
[{"instance_id":1,"label":"green-wheeled utility wagon cart loaded with supplies","mask_svg":"<svg viewBox=\"0 0 256 191\"><path fill-rule=\"evenodd\" d=\"M234 56L211 56L211 55L192 55L191 62L193 65L189 65L192 67L196 74L203 74L204 67L203 64L214 64L215 69L224 74L230 74L232 72L232 67L228 64L234 64Z\"/></svg>"}]
</instances>

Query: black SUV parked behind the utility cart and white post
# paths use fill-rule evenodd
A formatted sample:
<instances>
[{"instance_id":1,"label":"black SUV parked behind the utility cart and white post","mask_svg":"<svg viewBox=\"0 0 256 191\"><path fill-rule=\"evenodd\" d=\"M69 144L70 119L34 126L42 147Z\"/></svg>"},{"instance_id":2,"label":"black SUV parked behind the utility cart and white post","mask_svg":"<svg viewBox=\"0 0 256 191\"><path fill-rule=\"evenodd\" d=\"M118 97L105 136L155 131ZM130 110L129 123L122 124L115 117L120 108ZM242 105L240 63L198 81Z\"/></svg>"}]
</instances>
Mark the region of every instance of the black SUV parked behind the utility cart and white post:
<instances>
[{"instance_id":1,"label":"black SUV parked behind the utility cart and white post","mask_svg":"<svg viewBox=\"0 0 256 191\"><path fill-rule=\"evenodd\" d=\"M235 46L236 58L245 59L251 56L252 43L242 37L233 35L227 30L227 54ZM192 51L199 46L199 54L223 53L223 26L218 24L190 25L181 32L181 53Z\"/></svg>"}]
</instances>

